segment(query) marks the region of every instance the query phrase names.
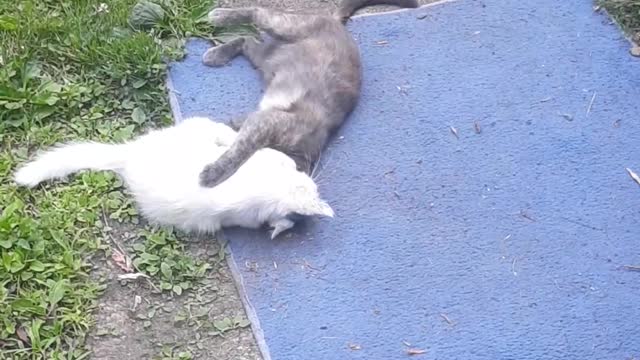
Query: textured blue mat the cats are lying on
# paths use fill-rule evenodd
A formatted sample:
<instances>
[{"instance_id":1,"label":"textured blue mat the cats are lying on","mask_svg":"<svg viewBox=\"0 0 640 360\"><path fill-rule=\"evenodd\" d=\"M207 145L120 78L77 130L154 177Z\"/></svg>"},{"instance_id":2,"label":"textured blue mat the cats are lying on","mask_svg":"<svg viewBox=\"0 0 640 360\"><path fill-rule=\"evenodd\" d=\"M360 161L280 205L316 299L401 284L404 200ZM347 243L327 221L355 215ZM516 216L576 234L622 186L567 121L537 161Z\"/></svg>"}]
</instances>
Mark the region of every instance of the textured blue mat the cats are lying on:
<instances>
[{"instance_id":1,"label":"textured blue mat the cats are lying on","mask_svg":"<svg viewBox=\"0 0 640 360\"><path fill-rule=\"evenodd\" d=\"M640 63L591 6L350 23L364 91L320 173L337 218L229 233L273 359L640 356L640 273L621 268L640 264ZM183 115L250 111L257 74L203 67L206 47L171 70Z\"/></svg>"}]
</instances>

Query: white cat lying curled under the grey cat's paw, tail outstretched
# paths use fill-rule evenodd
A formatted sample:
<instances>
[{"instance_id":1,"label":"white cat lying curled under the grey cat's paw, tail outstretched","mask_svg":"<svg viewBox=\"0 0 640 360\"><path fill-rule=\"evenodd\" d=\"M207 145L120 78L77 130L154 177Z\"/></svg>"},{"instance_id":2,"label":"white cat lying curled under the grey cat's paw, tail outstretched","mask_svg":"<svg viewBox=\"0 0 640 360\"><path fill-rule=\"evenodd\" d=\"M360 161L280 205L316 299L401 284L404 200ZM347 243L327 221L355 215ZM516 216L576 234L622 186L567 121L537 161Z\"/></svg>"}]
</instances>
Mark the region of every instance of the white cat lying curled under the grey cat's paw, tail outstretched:
<instances>
[{"instance_id":1,"label":"white cat lying curled under the grey cat's paw, tail outstretched","mask_svg":"<svg viewBox=\"0 0 640 360\"><path fill-rule=\"evenodd\" d=\"M229 181L201 187L202 168L235 137L227 125L194 117L124 144L63 144L20 168L15 181L34 187L83 169L112 170L124 179L145 217L186 231L213 233L267 223L274 228L273 239L293 227L289 215L333 217L314 181L297 171L288 156L268 148L256 152Z\"/></svg>"}]
</instances>

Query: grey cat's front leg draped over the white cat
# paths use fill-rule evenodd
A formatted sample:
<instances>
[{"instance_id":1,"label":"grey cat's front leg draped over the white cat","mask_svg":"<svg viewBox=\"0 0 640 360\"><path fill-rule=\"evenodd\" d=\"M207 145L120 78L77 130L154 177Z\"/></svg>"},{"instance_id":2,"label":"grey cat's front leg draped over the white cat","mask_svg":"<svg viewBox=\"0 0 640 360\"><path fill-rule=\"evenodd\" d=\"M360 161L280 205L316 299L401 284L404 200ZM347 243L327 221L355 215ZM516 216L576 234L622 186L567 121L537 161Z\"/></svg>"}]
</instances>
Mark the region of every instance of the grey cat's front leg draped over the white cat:
<instances>
[{"instance_id":1,"label":"grey cat's front leg draped over the white cat","mask_svg":"<svg viewBox=\"0 0 640 360\"><path fill-rule=\"evenodd\" d=\"M273 124L276 120L277 118L267 112L259 111L250 114L229 149L202 170L200 185L211 188L223 183L235 174L256 151L271 145L269 139L272 129L277 128L277 125Z\"/></svg>"}]
</instances>

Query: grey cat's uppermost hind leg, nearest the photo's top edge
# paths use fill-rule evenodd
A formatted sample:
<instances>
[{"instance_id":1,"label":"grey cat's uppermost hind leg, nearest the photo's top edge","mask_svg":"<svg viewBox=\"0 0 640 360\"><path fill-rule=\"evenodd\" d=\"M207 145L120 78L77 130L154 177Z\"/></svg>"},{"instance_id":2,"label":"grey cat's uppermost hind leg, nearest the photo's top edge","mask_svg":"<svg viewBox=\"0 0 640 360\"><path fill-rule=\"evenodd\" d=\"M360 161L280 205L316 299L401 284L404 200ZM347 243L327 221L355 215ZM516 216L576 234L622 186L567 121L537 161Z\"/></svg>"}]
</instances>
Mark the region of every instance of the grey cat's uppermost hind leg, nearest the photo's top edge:
<instances>
[{"instance_id":1,"label":"grey cat's uppermost hind leg, nearest the photo's top edge","mask_svg":"<svg viewBox=\"0 0 640 360\"><path fill-rule=\"evenodd\" d=\"M209 12L209 20L218 26L251 23L274 38L291 41L308 36L311 27L317 26L319 21L326 21L328 18L309 14L286 13L262 7L250 7L214 9Z\"/></svg>"}]
</instances>

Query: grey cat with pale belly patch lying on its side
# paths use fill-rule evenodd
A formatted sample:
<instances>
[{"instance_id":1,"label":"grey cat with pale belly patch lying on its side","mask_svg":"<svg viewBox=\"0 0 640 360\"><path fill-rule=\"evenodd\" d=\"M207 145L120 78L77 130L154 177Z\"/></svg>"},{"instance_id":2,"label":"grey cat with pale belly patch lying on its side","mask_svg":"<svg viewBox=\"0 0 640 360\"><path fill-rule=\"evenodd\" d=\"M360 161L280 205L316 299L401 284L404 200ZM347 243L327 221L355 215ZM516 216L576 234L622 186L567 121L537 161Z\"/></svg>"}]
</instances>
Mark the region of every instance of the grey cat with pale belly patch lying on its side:
<instances>
[{"instance_id":1,"label":"grey cat with pale belly patch lying on its side","mask_svg":"<svg viewBox=\"0 0 640 360\"><path fill-rule=\"evenodd\" d=\"M215 25L254 24L270 39L240 37L203 55L209 66L244 55L260 72L265 92L257 111L232 121L239 129L236 141L200 173L202 186L222 183L264 147L290 156L299 171L311 172L360 96L360 53L344 23L357 9L378 4L418 7L416 0L342 0L331 15L261 7L209 13Z\"/></svg>"}]
</instances>

